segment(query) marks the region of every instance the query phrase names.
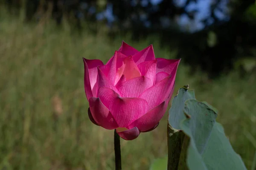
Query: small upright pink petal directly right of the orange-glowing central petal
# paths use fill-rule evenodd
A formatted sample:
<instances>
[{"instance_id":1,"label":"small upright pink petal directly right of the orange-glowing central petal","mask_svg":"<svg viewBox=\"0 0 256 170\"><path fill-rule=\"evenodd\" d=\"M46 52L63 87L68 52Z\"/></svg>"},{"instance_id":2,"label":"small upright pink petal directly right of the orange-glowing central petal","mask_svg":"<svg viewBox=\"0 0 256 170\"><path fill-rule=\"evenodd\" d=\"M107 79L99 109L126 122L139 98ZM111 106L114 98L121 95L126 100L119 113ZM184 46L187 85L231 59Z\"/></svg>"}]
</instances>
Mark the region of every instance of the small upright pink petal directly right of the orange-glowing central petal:
<instances>
[{"instance_id":1,"label":"small upright pink petal directly right of the orange-glowing central petal","mask_svg":"<svg viewBox=\"0 0 256 170\"><path fill-rule=\"evenodd\" d=\"M151 80L151 86L154 85L157 70L157 60L145 61L138 65L142 76L148 77Z\"/></svg>"}]
</instances>

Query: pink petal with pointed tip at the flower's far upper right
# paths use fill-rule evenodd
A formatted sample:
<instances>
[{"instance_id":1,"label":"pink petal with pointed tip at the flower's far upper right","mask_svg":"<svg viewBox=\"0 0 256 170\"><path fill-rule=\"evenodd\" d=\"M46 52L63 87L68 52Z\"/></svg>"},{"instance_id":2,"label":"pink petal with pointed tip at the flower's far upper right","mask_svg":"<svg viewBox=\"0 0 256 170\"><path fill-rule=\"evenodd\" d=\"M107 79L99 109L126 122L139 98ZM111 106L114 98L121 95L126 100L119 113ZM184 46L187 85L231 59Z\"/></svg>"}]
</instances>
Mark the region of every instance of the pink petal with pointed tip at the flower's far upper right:
<instances>
[{"instance_id":1,"label":"pink petal with pointed tip at the flower's far upper right","mask_svg":"<svg viewBox=\"0 0 256 170\"><path fill-rule=\"evenodd\" d=\"M166 72L168 74L172 73L172 70L179 65L180 59L164 59L157 58L157 73Z\"/></svg>"}]
</instances>

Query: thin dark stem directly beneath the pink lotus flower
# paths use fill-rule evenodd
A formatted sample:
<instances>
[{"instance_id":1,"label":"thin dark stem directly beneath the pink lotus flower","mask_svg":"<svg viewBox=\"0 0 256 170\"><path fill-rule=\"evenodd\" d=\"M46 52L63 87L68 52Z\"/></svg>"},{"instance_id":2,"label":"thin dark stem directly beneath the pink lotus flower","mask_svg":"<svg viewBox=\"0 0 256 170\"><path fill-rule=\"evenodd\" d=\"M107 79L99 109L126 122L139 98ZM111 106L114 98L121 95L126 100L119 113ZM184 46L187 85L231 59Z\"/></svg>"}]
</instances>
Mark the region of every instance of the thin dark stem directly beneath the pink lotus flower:
<instances>
[{"instance_id":1,"label":"thin dark stem directly beneath the pink lotus flower","mask_svg":"<svg viewBox=\"0 0 256 170\"><path fill-rule=\"evenodd\" d=\"M116 170L122 170L120 136L116 133L116 129L114 132L114 148L115 148Z\"/></svg>"}]
</instances>

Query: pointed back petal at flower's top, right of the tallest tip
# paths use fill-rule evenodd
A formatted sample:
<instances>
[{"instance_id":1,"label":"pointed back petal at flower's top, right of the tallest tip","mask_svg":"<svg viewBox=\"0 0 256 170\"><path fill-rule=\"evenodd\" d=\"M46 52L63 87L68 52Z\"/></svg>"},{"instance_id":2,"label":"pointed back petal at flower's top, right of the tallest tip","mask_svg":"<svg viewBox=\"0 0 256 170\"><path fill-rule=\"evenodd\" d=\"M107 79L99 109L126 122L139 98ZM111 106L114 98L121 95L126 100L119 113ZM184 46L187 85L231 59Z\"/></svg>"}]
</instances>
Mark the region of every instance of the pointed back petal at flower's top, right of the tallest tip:
<instances>
[{"instance_id":1,"label":"pointed back petal at flower's top, right of the tallest tip","mask_svg":"<svg viewBox=\"0 0 256 170\"><path fill-rule=\"evenodd\" d=\"M149 45L147 48L144 48L137 54L134 54L133 57L134 57L134 62L136 62L137 65L144 61L154 60L155 56L154 56L153 45Z\"/></svg>"}]
</instances>

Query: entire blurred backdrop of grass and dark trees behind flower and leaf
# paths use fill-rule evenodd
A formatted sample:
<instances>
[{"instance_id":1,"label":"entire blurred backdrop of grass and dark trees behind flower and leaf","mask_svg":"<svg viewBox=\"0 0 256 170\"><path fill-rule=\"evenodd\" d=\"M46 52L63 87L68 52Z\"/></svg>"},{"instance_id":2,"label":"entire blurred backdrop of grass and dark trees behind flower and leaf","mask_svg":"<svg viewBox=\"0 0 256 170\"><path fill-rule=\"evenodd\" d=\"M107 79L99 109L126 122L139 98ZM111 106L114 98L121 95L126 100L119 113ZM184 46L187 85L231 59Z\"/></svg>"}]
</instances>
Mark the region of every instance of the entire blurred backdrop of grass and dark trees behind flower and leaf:
<instances>
[{"instance_id":1,"label":"entire blurred backdrop of grass and dark trees behind flower and leaf","mask_svg":"<svg viewBox=\"0 0 256 170\"><path fill-rule=\"evenodd\" d=\"M122 40L182 58L189 84L248 169L256 168L255 0L0 1L0 170L111 170L113 132L87 117L81 57L113 55ZM124 170L167 154L159 127L122 140Z\"/></svg>"}]
</instances>

